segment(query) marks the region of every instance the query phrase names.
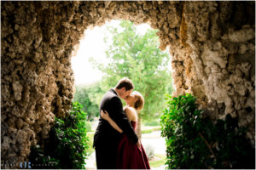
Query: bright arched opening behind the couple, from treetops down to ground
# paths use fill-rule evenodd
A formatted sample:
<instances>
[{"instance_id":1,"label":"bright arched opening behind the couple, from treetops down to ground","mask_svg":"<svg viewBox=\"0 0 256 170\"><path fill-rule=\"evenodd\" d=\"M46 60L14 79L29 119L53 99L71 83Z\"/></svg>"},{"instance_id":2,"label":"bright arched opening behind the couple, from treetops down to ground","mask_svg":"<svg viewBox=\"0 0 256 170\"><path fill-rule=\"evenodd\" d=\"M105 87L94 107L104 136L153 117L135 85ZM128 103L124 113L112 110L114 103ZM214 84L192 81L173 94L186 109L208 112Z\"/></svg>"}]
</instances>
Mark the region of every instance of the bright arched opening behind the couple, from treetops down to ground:
<instances>
[{"instance_id":1,"label":"bright arched opening behind the couple, from treetops down to ground","mask_svg":"<svg viewBox=\"0 0 256 170\"><path fill-rule=\"evenodd\" d=\"M107 26L111 26L108 31ZM164 166L166 157L165 139L160 137L160 114L166 106L165 94L172 94L173 88L171 72L167 68L170 66L168 65L170 56L160 51L159 37L149 28L148 25L134 26L128 20L112 20L102 27L84 31L85 37L80 41L79 49L74 53L76 55L73 56L72 62L75 82L77 82L73 101L81 103L84 106L83 111L88 115L87 123L92 125L89 132L89 144L91 144L99 118L98 108L102 96L109 88L113 88L121 77L131 78L136 86L135 89L143 96L147 95L145 99L147 102L139 114L137 136L142 140L150 163L160 159L162 161L162 164L158 165L160 167ZM103 38L106 37L108 42L105 44ZM105 46L109 48L105 49ZM106 59L105 50L108 51L108 59ZM94 81L97 76L97 74L94 75L95 70L88 71L89 69L84 68L92 65L90 59L85 59L89 57L99 62L98 69L108 75L111 81L108 79L106 81L106 78L105 81ZM86 66L85 60L88 62ZM80 69L77 68L79 65L81 65ZM86 78L90 79L91 76L94 76L91 81ZM85 78L85 83L82 83ZM123 105L126 105L125 102ZM143 120L143 127L141 120ZM93 151L92 148L91 151ZM95 162L95 152L92 152L86 160L86 167L96 168Z\"/></svg>"}]
</instances>

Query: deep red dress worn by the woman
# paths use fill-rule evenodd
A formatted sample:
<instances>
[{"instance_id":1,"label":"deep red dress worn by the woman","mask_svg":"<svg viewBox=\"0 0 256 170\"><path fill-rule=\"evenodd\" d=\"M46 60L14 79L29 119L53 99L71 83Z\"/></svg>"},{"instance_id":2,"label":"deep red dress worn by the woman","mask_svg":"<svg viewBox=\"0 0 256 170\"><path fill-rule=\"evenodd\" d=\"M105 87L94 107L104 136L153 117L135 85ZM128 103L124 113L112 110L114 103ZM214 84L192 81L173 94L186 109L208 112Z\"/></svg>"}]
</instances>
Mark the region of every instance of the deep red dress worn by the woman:
<instances>
[{"instance_id":1,"label":"deep red dress worn by the woman","mask_svg":"<svg viewBox=\"0 0 256 170\"><path fill-rule=\"evenodd\" d=\"M137 122L131 121L131 125L136 131ZM150 169L143 144L140 150L124 133L118 146L117 164L118 169Z\"/></svg>"}]
</instances>

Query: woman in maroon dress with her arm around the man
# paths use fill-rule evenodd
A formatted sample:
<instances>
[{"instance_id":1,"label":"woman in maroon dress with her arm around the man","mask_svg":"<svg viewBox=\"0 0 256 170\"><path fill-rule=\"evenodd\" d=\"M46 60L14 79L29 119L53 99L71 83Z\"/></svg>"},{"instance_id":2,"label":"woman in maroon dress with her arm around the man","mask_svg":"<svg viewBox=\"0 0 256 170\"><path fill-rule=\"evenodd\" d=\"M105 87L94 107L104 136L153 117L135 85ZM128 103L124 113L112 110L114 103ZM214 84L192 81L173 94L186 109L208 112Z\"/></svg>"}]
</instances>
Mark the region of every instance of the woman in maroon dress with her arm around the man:
<instances>
[{"instance_id":1,"label":"woman in maroon dress with her arm around the man","mask_svg":"<svg viewBox=\"0 0 256 170\"><path fill-rule=\"evenodd\" d=\"M137 114L143 109L144 99L143 95L137 91L132 92L127 99L125 99L125 115L131 122L134 131L137 129ZM103 119L107 120L109 124L115 128L119 133L123 133L122 129L113 122L108 112L101 111L101 116ZM107 146L108 147L108 146ZM141 148L137 147L137 144L133 144L130 139L127 138L125 133L123 133L122 139L120 140L118 146L117 154L117 167L119 169L150 169L148 163L148 157L143 149L143 144Z\"/></svg>"}]
</instances>

